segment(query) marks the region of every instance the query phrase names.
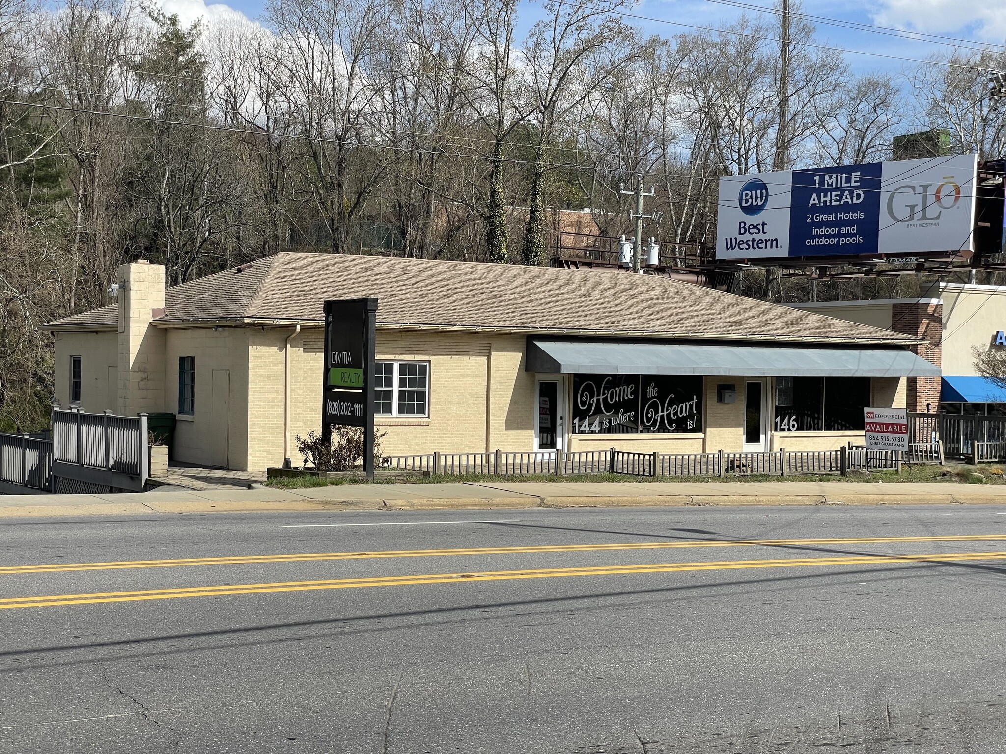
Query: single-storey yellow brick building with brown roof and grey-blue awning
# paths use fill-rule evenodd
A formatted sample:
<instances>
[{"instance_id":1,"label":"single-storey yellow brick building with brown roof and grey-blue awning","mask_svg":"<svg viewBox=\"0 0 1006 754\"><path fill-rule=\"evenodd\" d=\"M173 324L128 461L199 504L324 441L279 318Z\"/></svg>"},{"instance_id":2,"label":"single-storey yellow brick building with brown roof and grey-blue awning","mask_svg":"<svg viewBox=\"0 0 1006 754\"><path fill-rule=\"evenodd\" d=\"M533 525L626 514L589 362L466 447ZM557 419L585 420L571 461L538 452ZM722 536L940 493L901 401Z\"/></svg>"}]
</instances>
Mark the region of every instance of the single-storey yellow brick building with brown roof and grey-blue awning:
<instances>
[{"instance_id":1,"label":"single-storey yellow brick building with brown roof and grey-blue awning","mask_svg":"<svg viewBox=\"0 0 1006 754\"><path fill-rule=\"evenodd\" d=\"M378 300L389 454L830 449L939 376L918 338L657 275L281 253L49 323L62 406L171 412L173 458L261 469L321 424L323 303ZM858 416L858 425L856 416Z\"/></svg>"}]
</instances>

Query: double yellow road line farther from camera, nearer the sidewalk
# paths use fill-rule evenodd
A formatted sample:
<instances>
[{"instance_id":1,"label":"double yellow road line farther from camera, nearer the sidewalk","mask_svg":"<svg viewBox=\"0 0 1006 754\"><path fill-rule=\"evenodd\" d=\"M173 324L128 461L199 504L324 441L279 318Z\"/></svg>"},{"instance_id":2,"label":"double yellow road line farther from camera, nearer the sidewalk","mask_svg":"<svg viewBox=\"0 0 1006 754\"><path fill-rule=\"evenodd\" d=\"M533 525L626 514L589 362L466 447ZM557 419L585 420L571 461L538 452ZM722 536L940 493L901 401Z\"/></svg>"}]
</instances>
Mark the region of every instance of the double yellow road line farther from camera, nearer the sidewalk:
<instances>
[{"instance_id":1,"label":"double yellow road line farther from camera, nearer the sidewalk","mask_svg":"<svg viewBox=\"0 0 1006 754\"><path fill-rule=\"evenodd\" d=\"M523 555L532 553L609 552L616 550L676 550L708 547L786 547L801 545L869 545L911 542L999 542L1006 534L962 534L934 537L841 537L835 539L722 540L700 542L632 542L611 545L540 545L531 547L468 547L450 550L383 550L376 552L293 553L283 555L231 555L169 560L120 560L98 563L48 563L2 566L0 576L22 573L64 573L132 568L175 568L179 566L241 565L255 563L302 563L321 560L362 560L372 558L418 558L465 555Z\"/></svg>"}]
</instances>

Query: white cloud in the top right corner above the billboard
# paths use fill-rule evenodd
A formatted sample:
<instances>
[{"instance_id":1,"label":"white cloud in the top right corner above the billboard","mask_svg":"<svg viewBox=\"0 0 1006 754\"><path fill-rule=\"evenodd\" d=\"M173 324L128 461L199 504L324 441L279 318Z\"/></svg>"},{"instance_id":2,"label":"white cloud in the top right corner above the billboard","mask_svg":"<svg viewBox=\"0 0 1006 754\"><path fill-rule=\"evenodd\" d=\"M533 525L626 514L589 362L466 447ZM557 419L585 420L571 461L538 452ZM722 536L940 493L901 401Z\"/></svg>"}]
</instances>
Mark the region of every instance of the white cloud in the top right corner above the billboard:
<instances>
[{"instance_id":1,"label":"white cloud in the top right corner above the billboard","mask_svg":"<svg viewBox=\"0 0 1006 754\"><path fill-rule=\"evenodd\" d=\"M874 23L929 34L963 35L1002 43L1006 39L1003 0L883 0Z\"/></svg>"}]
</instances>

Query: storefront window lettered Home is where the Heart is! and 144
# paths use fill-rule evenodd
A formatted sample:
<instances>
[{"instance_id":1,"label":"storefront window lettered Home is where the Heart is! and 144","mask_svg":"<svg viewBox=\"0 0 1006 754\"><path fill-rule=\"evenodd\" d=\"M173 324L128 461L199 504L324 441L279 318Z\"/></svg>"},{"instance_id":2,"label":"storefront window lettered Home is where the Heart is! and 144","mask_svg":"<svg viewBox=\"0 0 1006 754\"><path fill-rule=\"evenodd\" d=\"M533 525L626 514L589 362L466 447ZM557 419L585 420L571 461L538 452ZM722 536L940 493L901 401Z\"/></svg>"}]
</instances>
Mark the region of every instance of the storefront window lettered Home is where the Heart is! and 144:
<instances>
[{"instance_id":1,"label":"storefront window lettered Home is where the Heart is! and 144","mask_svg":"<svg viewBox=\"0 0 1006 754\"><path fill-rule=\"evenodd\" d=\"M675 375L573 376L574 434L702 431L702 378Z\"/></svg>"}]
</instances>

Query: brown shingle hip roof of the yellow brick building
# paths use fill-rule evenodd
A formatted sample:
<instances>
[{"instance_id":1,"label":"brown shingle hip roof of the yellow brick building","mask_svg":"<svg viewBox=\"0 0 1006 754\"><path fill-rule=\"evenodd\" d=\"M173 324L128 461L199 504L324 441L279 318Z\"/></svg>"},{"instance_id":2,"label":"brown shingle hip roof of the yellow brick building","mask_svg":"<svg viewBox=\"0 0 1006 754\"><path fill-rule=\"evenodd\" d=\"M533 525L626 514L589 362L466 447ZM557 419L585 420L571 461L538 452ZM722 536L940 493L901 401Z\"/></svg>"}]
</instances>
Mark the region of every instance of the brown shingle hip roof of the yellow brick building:
<instances>
[{"instance_id":1,"label":"brown shingle hip roof of the yellow brick building","mask_svg":"<svg viewBox=\"0 0 1006 754\"><path fill-rule=\"evenodd\" d=\"M326 299L378 299L385 326L640 337L912 342L905 335L656 275L284 252L168 289L159 324L322 321ZM50 323L114 326L116 307Z\"/></svg>"}]
</instances>

